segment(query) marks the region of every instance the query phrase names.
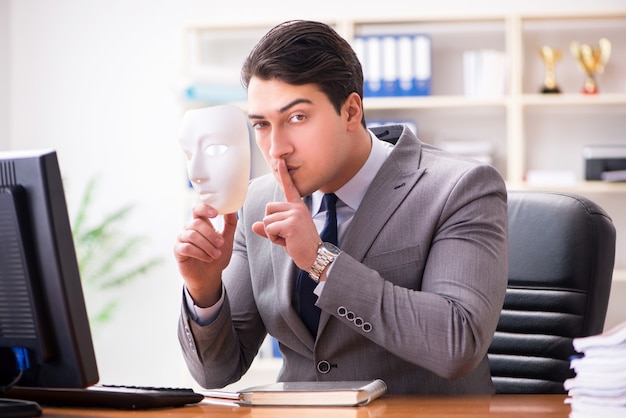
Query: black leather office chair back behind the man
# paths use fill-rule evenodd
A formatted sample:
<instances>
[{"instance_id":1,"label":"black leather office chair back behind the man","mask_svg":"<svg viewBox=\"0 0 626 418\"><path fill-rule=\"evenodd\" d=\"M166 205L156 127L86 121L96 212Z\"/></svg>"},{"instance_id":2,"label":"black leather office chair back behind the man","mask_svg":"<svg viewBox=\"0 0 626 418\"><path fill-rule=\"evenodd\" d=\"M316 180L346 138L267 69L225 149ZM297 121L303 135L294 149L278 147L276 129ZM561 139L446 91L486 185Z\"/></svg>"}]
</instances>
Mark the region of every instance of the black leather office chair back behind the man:
<instances>
[{"instance_id":1,"label":"black leather office chair back behind the man","mask_svg":"<svg viewBox=\"0 0 626 418\"><path fill-rule=\"evenodd\" d=\"M489 348L496 393L565 393L572 339L604 327L615 227L581 196L510 191L509 278Z\"/></svg>"}]
</instances>

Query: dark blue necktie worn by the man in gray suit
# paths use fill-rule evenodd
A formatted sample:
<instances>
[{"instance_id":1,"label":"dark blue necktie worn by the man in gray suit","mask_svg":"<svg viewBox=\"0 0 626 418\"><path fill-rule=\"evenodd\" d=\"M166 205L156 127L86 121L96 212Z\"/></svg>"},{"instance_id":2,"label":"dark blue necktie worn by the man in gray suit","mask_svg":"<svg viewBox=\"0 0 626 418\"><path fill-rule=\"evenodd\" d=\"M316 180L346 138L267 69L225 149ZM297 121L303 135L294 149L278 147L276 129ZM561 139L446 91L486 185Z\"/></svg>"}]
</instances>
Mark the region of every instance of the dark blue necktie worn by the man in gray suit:
<instances>
[{"instance_id":1,"label":"dark blue necktie worn by the man in gray suit","mask_svg":"<svg viewBox=\"0 0 626 418\"><path fill-rule=\"evenodd\" d=\"M338 245L339 241L337 239L336 211L337 195L334 193L324 195L323 204L326 208L326 222L324 223L324 228L322 229L320 238L323 242L330 242ZM300 302L300 317L313 337L317 335L317 327L320 322L320 308L315 306L317 296L313 293L315 286L317 285L309 277L309 273L304 270L300 270L296 281L296 289Z\"/></svg>"}]
</instances>

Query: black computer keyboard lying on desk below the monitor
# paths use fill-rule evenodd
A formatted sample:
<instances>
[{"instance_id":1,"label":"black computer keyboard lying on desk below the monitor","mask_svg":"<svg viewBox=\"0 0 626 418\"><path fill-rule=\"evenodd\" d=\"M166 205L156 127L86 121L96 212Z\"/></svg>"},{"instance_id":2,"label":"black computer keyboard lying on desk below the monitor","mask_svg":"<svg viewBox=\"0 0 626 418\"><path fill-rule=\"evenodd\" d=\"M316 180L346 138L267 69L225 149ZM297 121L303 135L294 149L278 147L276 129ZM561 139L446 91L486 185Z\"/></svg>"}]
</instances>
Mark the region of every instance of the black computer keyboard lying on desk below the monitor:
<instances>
[{"instance_id":1,"label":"black computer keyboard lying on desk below the monitor","mask_svg":"<svg viewBox=\"0 0 626 418\"><path fill-rule=\"evenodd\" d=\"M4 397L33 401L42 406L107 409L173 408L204 399L204 395L193 389L114 385L85 389L14 386Z\"/></svg>"}]
</instances>

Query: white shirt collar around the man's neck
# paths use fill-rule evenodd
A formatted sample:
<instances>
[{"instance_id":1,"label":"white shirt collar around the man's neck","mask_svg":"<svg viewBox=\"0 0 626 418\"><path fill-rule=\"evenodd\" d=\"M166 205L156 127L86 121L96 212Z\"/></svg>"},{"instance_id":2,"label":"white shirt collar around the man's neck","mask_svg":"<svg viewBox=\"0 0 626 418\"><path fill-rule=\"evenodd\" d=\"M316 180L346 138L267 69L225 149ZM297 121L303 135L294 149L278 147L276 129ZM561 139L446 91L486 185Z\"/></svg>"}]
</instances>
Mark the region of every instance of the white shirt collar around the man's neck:
<instances>
[{"instance_id":1,"label":"white shirt collar around the man's neck","mask_svg":"<svg viewBox=\"0 0 626 418\"><path fill-rule=\"evenodd\" d=\"M372 141L370 155L354 177L335 192L339 200L343 204L348 205L353 211L358 209L372 180L376 177L376 173L378 173L378 170L393 150L392 144L381 141L369 129L367 132L370 134L370 140ZM311 195L311 213L313 215L319 212L323 197L324 193L319 190Z\"/></svg>"}]
</instances>

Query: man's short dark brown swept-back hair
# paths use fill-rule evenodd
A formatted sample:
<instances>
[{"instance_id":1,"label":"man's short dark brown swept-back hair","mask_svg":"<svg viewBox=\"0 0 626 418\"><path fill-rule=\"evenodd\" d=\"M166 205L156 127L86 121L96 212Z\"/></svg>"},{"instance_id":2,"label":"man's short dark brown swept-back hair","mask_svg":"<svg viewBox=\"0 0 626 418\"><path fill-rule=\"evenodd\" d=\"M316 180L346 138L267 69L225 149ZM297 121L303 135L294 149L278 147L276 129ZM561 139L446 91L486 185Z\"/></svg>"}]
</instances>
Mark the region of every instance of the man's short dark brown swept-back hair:
<instances>
[{"instance_id":1,"label":"man's short dark brown swept-back hair","mask_svg":"<svg viewBox=\"0 0 626 418\"><path fill-rule=\"evenodd\" d=\"M316 84L337 113L351 93L363 99L363 70L356 53L332 27L320 22L291 20L267 32L243 64L245 88L252 77ZM365 126L364 118L362 123Z\"/></svg>"}]
</instances>

